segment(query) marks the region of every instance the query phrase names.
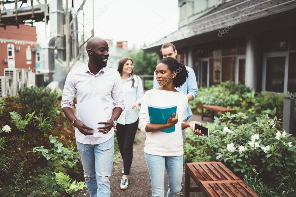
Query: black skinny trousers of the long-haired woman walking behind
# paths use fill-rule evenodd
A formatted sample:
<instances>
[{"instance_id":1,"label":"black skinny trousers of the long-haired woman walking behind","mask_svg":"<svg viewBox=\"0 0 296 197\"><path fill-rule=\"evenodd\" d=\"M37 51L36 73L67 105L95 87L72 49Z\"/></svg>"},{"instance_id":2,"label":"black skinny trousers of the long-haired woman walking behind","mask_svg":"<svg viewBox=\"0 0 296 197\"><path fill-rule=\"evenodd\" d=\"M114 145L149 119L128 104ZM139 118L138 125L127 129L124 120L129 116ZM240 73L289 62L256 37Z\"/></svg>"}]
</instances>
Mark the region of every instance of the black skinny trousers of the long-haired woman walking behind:
<instances>
[{"instance_id":1,"label":"black skinny trousers of the long-haired woman walking behind","mask_svg":"<svg viewBox=\"0 0 296 197\"><path fill-rule=\"evenodd\" d=\"M129 175L131 163L133 161L133 141L135 139L136 131L138 128L139 119L131 124L117 123L115 131L119 151L123 159L124 175Z\"/></svg>"}]
</instances>

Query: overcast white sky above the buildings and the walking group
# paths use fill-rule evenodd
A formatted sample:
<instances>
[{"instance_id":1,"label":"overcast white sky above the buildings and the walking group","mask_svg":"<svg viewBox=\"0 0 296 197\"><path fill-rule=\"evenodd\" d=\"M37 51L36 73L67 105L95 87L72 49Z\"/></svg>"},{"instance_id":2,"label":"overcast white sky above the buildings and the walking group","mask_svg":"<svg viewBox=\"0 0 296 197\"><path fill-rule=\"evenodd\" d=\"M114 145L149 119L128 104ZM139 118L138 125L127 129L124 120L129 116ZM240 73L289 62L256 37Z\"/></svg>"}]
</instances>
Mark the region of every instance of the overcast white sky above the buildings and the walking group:
<instances>
[{"instance_id":1,"label":"overcast white sky above the buildings and the walking group","mask_svg":"<svg viewBox=\"0 0 296 197\"><path fill-rule=\"evenodd\" d=\"M65 1L64 1L65 2ZM74 0L77 10L82 0ZM64 4L65 5L65 4ZM71 7L71 0L69 0ZM92 29L92 0L84 5L86 37ZM178 29L178 0L94 0L94 35L115 41L128 41L128 47L152 44ZM87 22L87 20L89 22ZM82 24L82 12L78 14L78 27ZM50 20L46 27L50 34ZM44 22L34 23L37 27L38 42L45 38Z\"/></svg>"}]
</instances>

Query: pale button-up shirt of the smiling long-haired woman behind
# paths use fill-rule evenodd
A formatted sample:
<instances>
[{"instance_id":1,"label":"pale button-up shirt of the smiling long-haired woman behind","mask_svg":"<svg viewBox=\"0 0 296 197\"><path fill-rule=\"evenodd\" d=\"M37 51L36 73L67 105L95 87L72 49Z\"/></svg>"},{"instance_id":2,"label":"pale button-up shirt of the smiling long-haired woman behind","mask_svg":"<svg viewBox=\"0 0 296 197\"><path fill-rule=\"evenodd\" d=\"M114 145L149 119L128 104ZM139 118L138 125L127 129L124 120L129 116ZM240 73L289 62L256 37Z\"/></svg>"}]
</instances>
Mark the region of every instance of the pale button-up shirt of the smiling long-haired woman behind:
<instances>
[{"instance_id":1,"label":"pale button-up shirt of the smiling long-haired woman behind","mask_svg":"<svg viewBox=\"0 0 296 197\"><path fill-rule=\"evenodd\" d=\"M135 79L134 87L131 88L133 80ZM136 108L132 109L133 104L138 101L142 103L142 97L144 95L142 80L139 76L133 75L122 81L124 106L125 110L119 116L117 122L119 124L131 124L138 120L139 113Z\"/></svg>"}]
</instances>

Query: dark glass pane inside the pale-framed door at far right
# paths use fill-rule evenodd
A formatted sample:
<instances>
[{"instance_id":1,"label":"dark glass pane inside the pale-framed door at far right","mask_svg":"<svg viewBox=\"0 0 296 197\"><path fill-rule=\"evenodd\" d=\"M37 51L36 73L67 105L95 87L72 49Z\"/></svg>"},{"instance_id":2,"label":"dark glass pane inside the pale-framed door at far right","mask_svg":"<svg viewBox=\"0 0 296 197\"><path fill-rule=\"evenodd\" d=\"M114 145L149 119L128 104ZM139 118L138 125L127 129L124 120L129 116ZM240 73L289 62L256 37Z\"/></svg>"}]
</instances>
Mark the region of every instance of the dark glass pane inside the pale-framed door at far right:
<instances>
[{"instance_id":1,"label":"dark glass pane inside the pale-framed door at far right","mask_svg":"<svg viewBox=\"0 0 296 197\"><path fill-rule=\"evenodd\" d=\"M285 57L266 58L266 91L284 92Z\"/></svg>"}]
</instances>

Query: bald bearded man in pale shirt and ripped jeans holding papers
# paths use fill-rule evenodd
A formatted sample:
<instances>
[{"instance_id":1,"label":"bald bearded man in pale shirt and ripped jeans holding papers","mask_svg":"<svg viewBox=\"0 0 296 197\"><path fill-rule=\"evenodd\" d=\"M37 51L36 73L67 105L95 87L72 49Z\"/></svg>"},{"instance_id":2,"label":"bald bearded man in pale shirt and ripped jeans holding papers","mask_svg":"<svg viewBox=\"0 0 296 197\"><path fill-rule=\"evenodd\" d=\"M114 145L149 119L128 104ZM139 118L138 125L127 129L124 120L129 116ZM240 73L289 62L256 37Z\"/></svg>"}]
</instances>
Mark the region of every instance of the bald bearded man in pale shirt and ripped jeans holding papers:
<instances>
[{"instance_id":1,"label":"bald bearded man in pale shirt and ripped jeans holding papers","mask_svg":"<svg viewBox=\"0 0 296 197\"><path fill-rule=\"evenodd\" d=\"M107 67L109 47L102 38L91 38L86 44L89 61L72 69L67 75L61 107L75 127L79 158L91 197L110 196L110 176L114 157L114 129L116 120L124 110L121 78L117 70ZM77 103L101 99L108 121L98 122L103 127L84 125L79 114L73 111L73 99ZM86 129L90 130L87 131Z\"/></svg>"}]
</instances>

